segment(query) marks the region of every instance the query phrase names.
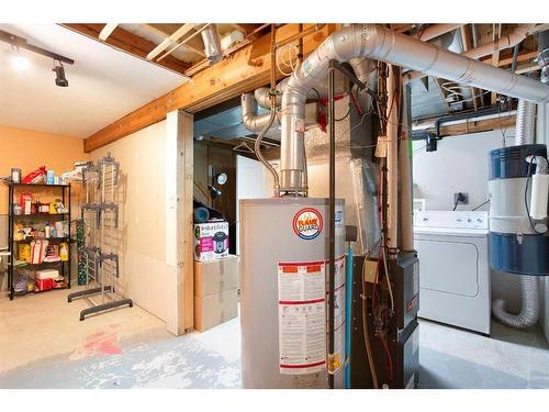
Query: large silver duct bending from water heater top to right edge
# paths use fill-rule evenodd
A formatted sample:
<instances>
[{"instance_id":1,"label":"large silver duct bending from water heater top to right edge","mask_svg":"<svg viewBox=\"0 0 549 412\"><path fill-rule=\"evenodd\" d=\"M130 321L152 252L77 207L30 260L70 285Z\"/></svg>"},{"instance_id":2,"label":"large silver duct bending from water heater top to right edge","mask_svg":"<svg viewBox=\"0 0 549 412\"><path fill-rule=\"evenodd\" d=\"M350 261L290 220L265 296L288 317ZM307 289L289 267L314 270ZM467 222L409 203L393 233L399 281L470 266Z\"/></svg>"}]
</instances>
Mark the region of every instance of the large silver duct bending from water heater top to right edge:
<instances>
[{"instance_id":1,"label":"large silver duct bending from water heater top to right edge","mask_svg":"<svg viewBox=\"0 0 549 412\"><path fill-rule=\"evenodd\" d=\"M354 57L382 60L529 101L549 100L549 86L537 80L440 49L379 25L344 27L318 46L288 80L281 109L282 191L304 191L304 107L309 90L327 75L330 59L348 62Z\"/></svg>"}]
</instances>

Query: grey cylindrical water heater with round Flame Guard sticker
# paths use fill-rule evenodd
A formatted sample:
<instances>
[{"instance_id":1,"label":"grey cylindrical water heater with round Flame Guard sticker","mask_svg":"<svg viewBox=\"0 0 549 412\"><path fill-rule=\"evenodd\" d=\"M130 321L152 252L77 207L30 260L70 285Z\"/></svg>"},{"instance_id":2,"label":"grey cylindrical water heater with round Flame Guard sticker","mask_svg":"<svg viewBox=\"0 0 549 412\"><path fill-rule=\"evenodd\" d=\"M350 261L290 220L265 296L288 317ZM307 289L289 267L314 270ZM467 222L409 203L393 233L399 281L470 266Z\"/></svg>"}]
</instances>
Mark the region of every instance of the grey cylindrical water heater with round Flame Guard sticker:
<instances>
[{"instance_id":1,"label":"grey cylindrical water heater with round Flame Guard sticker","mask_svg":"<svg viewBox=\"0 0 549 412\"><path fill-rule=\"evenodd\" d=\"M334 385L343 387L343 200L335 218ZM327 388L328 199L242 200L240 227L244 388Z\"/></svg>"}]
</instances>

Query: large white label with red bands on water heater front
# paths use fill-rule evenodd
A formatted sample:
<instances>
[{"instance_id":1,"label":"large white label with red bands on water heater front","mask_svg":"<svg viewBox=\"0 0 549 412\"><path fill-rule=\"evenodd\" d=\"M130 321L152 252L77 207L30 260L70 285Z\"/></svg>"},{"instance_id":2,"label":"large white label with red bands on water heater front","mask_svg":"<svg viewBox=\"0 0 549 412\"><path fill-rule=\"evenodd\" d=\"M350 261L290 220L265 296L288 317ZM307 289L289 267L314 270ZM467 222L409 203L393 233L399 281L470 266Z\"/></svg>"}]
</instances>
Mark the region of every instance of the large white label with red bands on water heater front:
<instances>
[{"instance_id":1,"label":"large white label with red bands on water heater front","mask_svg":"<svg viewBox=\"0 0 549 412\"><path fill-rule=\"evenodd\" d=\"M280 374L326 367L325 263L278 264Z\"/></svg>"}]
</instances>

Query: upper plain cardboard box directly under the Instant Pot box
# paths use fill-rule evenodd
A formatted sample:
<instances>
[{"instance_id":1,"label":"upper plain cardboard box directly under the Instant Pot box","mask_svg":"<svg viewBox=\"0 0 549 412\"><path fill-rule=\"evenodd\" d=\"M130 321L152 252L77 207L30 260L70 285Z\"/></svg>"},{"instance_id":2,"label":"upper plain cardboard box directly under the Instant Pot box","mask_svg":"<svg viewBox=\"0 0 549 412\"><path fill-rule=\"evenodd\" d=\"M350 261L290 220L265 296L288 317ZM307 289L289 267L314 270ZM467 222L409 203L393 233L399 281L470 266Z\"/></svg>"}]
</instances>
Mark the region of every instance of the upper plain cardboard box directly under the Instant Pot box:
<instances>
[{"instance_id":1,"label":"upper plain cardboard box directly under the Instant Pot box","mask_svg":"<svg viewBox=\"0 0 549 412\"><path fill-rule=\"evenodd\" d=\"M238 256L235 255L219 260L194 261L194 296L203 298L238 288Z\"/></svg>"}]
</instances>

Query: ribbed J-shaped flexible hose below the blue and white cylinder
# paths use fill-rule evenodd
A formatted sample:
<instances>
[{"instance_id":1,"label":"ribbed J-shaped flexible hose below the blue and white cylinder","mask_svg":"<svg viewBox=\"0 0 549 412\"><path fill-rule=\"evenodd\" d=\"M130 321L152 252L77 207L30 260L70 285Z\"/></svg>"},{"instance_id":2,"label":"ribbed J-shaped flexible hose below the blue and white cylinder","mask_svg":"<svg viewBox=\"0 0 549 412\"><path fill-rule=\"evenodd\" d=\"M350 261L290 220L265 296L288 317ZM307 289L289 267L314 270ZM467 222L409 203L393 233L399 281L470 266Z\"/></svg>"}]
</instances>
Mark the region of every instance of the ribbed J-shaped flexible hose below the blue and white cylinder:
<instances>
[{"instance_id":1,"label":"ribbed J-shaped flexible hose below the blue and white cylinder","mask_svg":"<svg viewBox=\"0 0 549 412\"><path fill-rule=\"evenodd\" d=\"M492 303L492 312L503 324L512 327L524 329L533 326L539 318L539 294L537 276L520 276L520 294L523 308L520 313L511 314L505 311L505 301L495 299Z\"/></svg>"}]
</instances>

